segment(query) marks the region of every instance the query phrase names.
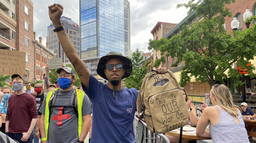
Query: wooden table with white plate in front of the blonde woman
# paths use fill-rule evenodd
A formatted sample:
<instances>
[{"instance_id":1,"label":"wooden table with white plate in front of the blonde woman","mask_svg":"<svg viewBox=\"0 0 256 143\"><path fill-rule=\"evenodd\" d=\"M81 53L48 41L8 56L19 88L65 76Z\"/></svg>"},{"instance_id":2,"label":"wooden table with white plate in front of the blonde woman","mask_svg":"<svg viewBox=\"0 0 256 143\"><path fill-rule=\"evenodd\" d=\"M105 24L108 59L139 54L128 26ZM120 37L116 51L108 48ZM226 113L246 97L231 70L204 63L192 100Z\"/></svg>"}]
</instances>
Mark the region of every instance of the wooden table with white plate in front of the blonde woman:
<instances>
[{"instance_id":1,"label":"wooden table with white plate in front of the blonde woman","mask_svg":"<svg viewBox=\"0 0 256 143\"><path fill-rule=\"evenodd\" d=\"M191 127L191 126L186 125L186 127ZM176 130L177 130L177 132L167 132L166 134L180 138L180 130L178 130L178 129L176 129ZM196 135L196 133L189 133L187 131L182 131L182 140L195 141L195 143L196 143L197 140L211 140L211 138L199 137Z\"/></svg>"}]
</instances>

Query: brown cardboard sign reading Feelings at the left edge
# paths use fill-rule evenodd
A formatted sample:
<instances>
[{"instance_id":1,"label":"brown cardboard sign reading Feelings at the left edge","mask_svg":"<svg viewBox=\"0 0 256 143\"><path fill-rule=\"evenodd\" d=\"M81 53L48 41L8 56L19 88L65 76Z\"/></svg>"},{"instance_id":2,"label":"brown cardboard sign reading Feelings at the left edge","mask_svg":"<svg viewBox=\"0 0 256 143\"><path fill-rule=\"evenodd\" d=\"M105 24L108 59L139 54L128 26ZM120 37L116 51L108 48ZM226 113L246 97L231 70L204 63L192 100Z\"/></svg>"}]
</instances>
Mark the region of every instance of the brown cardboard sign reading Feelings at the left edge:
<instances>
[{"instance_id":1,"label":"brown cardboard sign reading Feelings at the left edge","mask_svg":"<svg viewBox=\"0 0 256 143\"><path fill-rule=\"evenodd\" d=\"M24 75L26 53L0 49L0 75Z\"/></svg>"}]
</instances>

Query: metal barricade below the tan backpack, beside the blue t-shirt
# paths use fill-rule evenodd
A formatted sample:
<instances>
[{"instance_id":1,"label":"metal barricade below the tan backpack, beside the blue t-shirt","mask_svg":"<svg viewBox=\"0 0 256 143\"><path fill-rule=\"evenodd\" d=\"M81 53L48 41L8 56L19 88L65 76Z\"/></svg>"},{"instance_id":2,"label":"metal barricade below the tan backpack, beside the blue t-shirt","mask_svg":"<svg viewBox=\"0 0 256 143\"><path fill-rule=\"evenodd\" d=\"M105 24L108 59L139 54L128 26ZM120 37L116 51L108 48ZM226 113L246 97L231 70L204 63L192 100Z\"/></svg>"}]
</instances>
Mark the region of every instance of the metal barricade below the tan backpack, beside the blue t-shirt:
<instances>
[{"instance_id":1,"label":"metal barricade below the tan backpack, beside the blue t-shirt","mask_svg":"<svg viewBox=\"0 0 256 143\"><path fill-rule=\"evenodd\" d=\"M153 133L148 130L147 124L139 122L139 118L136 116L134 116L133 128L136 143L141 143L142 137L143 143L170 143L169 139L165 135Z\"/></svg>"}]
</instances>

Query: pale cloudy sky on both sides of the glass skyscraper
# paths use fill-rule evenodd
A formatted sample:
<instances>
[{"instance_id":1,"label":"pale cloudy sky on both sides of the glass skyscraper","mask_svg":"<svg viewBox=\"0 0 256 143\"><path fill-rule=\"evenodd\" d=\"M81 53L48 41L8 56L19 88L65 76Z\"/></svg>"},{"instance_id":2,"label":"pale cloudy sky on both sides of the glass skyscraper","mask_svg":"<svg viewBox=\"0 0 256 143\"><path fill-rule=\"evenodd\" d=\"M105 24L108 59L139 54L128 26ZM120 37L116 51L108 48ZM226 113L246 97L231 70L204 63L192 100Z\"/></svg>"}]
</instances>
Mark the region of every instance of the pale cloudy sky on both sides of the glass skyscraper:
<instances>
[{"instance_id":1,"label":"pale cloudy sky on both sides of the glass skyscraper","mask_svg":"<svg viewBox=\"0 0 256 143\"><path fill-rule=\"evenodd\" d=\"M79 24L79 0L31 0L33 2L33 30L36 39L43 38L46 45L47 26L51 20L48 16L48 5L60 3L63 5L63 16L71 18ZM187 9L176 9L178 3L187 3L188 0L129 0L131 18L131 50L138 47L144 52L147 50L148 40L153 38L150 31L158 21L179 23L187 15Z\"/></svg>"}]
</instances>

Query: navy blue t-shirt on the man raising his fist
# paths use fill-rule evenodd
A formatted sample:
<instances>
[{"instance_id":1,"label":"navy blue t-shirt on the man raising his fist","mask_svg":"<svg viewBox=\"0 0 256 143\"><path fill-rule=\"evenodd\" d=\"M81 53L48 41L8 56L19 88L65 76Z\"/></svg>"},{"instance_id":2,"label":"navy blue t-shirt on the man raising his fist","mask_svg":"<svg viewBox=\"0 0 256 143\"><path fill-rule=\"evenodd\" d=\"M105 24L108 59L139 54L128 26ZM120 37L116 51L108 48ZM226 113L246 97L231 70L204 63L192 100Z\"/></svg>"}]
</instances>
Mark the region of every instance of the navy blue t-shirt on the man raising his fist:
<instances>
[{"instance_id":1,"label":"navy blue t-shirt on the man raising his fist","mask_svg":"<svg viewBox=\"0 0 256 143\"><path fill-rule=\"evenodd\" d=\"M134 143L133 120L139 91L135 88L115 91L90 75L88 90L93 107L90 143Z\"/></svg>"}]
</instances>

